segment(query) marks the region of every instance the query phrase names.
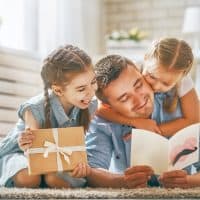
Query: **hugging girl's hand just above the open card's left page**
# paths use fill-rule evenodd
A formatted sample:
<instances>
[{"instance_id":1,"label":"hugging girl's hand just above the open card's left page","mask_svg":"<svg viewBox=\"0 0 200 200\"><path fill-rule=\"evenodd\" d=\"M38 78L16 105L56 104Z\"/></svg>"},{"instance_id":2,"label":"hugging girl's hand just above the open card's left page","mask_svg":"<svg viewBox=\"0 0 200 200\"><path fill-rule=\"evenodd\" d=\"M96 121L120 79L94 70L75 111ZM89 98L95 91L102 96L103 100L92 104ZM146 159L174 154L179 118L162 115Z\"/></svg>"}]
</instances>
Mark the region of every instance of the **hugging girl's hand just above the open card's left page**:
<instances>
[{"instance_id":1,"label":"hugging girl's hand just above the open card's left page","mask_svg":"<svg viewBox=\"0 0 200 200\"><path fill-rule=\"evenodd\" d=\"M142 119L142 118L134 119L134 126L138 129L145 129L148 131L156 132L159 135L162 135L162 132L158 127L157 123L152 119Z\"/></svg>"}]
</instances>

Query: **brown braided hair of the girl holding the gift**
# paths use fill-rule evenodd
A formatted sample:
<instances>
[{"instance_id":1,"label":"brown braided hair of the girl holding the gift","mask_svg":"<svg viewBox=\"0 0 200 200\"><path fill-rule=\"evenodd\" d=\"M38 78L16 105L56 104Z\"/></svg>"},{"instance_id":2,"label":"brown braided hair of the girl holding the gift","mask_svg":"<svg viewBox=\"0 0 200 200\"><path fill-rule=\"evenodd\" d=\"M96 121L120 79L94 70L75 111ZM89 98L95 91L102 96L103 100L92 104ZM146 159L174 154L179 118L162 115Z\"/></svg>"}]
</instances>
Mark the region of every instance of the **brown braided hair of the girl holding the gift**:
<instances>
[{"instance_id":1,"label":"brown braided hair of the girl holding the gift","mask_svg":"<svg viewBox=\"0 0 200 200\"><path fill-rule=\"evenodd\" d=\"M51 107L48 90L53 84L63 86L70 82L74 74L92 67L91 58L78 47L66 45L53 51L43 62L41 77L44 83L45 128L51 128ZM89 124L89 111L81 109L79 125L86 130Z\"/></svg>"}]
</instances>

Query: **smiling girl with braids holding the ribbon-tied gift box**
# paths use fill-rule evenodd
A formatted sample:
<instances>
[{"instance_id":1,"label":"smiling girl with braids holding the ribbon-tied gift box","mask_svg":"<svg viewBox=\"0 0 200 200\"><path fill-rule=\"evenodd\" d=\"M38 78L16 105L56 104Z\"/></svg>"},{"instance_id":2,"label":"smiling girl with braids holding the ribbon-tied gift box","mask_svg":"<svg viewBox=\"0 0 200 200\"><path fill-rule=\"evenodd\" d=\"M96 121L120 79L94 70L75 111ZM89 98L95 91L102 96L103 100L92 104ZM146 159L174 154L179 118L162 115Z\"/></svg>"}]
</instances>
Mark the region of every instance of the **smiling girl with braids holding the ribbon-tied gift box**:
<instances>
[{"instance_id":1,"label":"smiling girl with braids holding the ribbon-tied gift box","mask_svg":"<svg viewBox=\"0 0 200 200\"><path fill-rule=\"evenodd\" d=\"M90 113L96 106L92 97L97 89L91 59L79 48L67 45L44 60L41 77L44 94L20 106L16 128L0 143L0 186L39 187L41 182L56 188L83 186L85 179L81 177L89 173L89 166L80 163L71 176L66 172L30 176L27 158L20 149L26 151L31 147L31 129L88 128Z\"/></svg>"}]
</instances>

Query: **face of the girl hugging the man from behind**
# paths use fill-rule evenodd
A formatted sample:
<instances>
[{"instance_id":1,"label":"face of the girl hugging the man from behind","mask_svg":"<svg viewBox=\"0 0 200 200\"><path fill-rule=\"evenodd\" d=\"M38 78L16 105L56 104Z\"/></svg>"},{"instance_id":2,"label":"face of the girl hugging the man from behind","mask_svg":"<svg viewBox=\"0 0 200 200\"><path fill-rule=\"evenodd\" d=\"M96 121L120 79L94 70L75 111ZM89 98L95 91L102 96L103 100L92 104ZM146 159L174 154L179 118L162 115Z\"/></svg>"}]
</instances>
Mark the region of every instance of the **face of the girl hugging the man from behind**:
<instances>
[{"instance_id":1,"label":"face of the girl hugging the man from behind","mask_svg":"<svg viewBox=\"0 0 200 200\"><path fill-rule=\"evenodd\" d=\"M167 69L152 61L145 63L143 75L154 92L167 92L179 83L184 72L173 68Z\"/></svg>"}]
</instances>

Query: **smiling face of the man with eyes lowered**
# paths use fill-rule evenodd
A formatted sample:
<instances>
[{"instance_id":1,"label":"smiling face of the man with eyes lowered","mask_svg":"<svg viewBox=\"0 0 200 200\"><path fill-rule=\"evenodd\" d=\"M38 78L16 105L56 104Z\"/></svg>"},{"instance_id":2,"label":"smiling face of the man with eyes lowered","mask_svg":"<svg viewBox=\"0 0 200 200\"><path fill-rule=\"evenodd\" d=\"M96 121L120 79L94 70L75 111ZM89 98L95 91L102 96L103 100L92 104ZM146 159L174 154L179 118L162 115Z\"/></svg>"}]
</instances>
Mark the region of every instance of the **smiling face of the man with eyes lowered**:
<instances>
[{"instance_id":1,"label":"smiling face of the man with eyes lowered","mask_svg":"<svg viewBox=\"0 0 200 200\"><path fill-rule=\"evenodd\" d=\"M103 90L103 95L113 110L126 117L148 118L153 111L153 91L131 65Z\"/></svg>"}]
</instances>

